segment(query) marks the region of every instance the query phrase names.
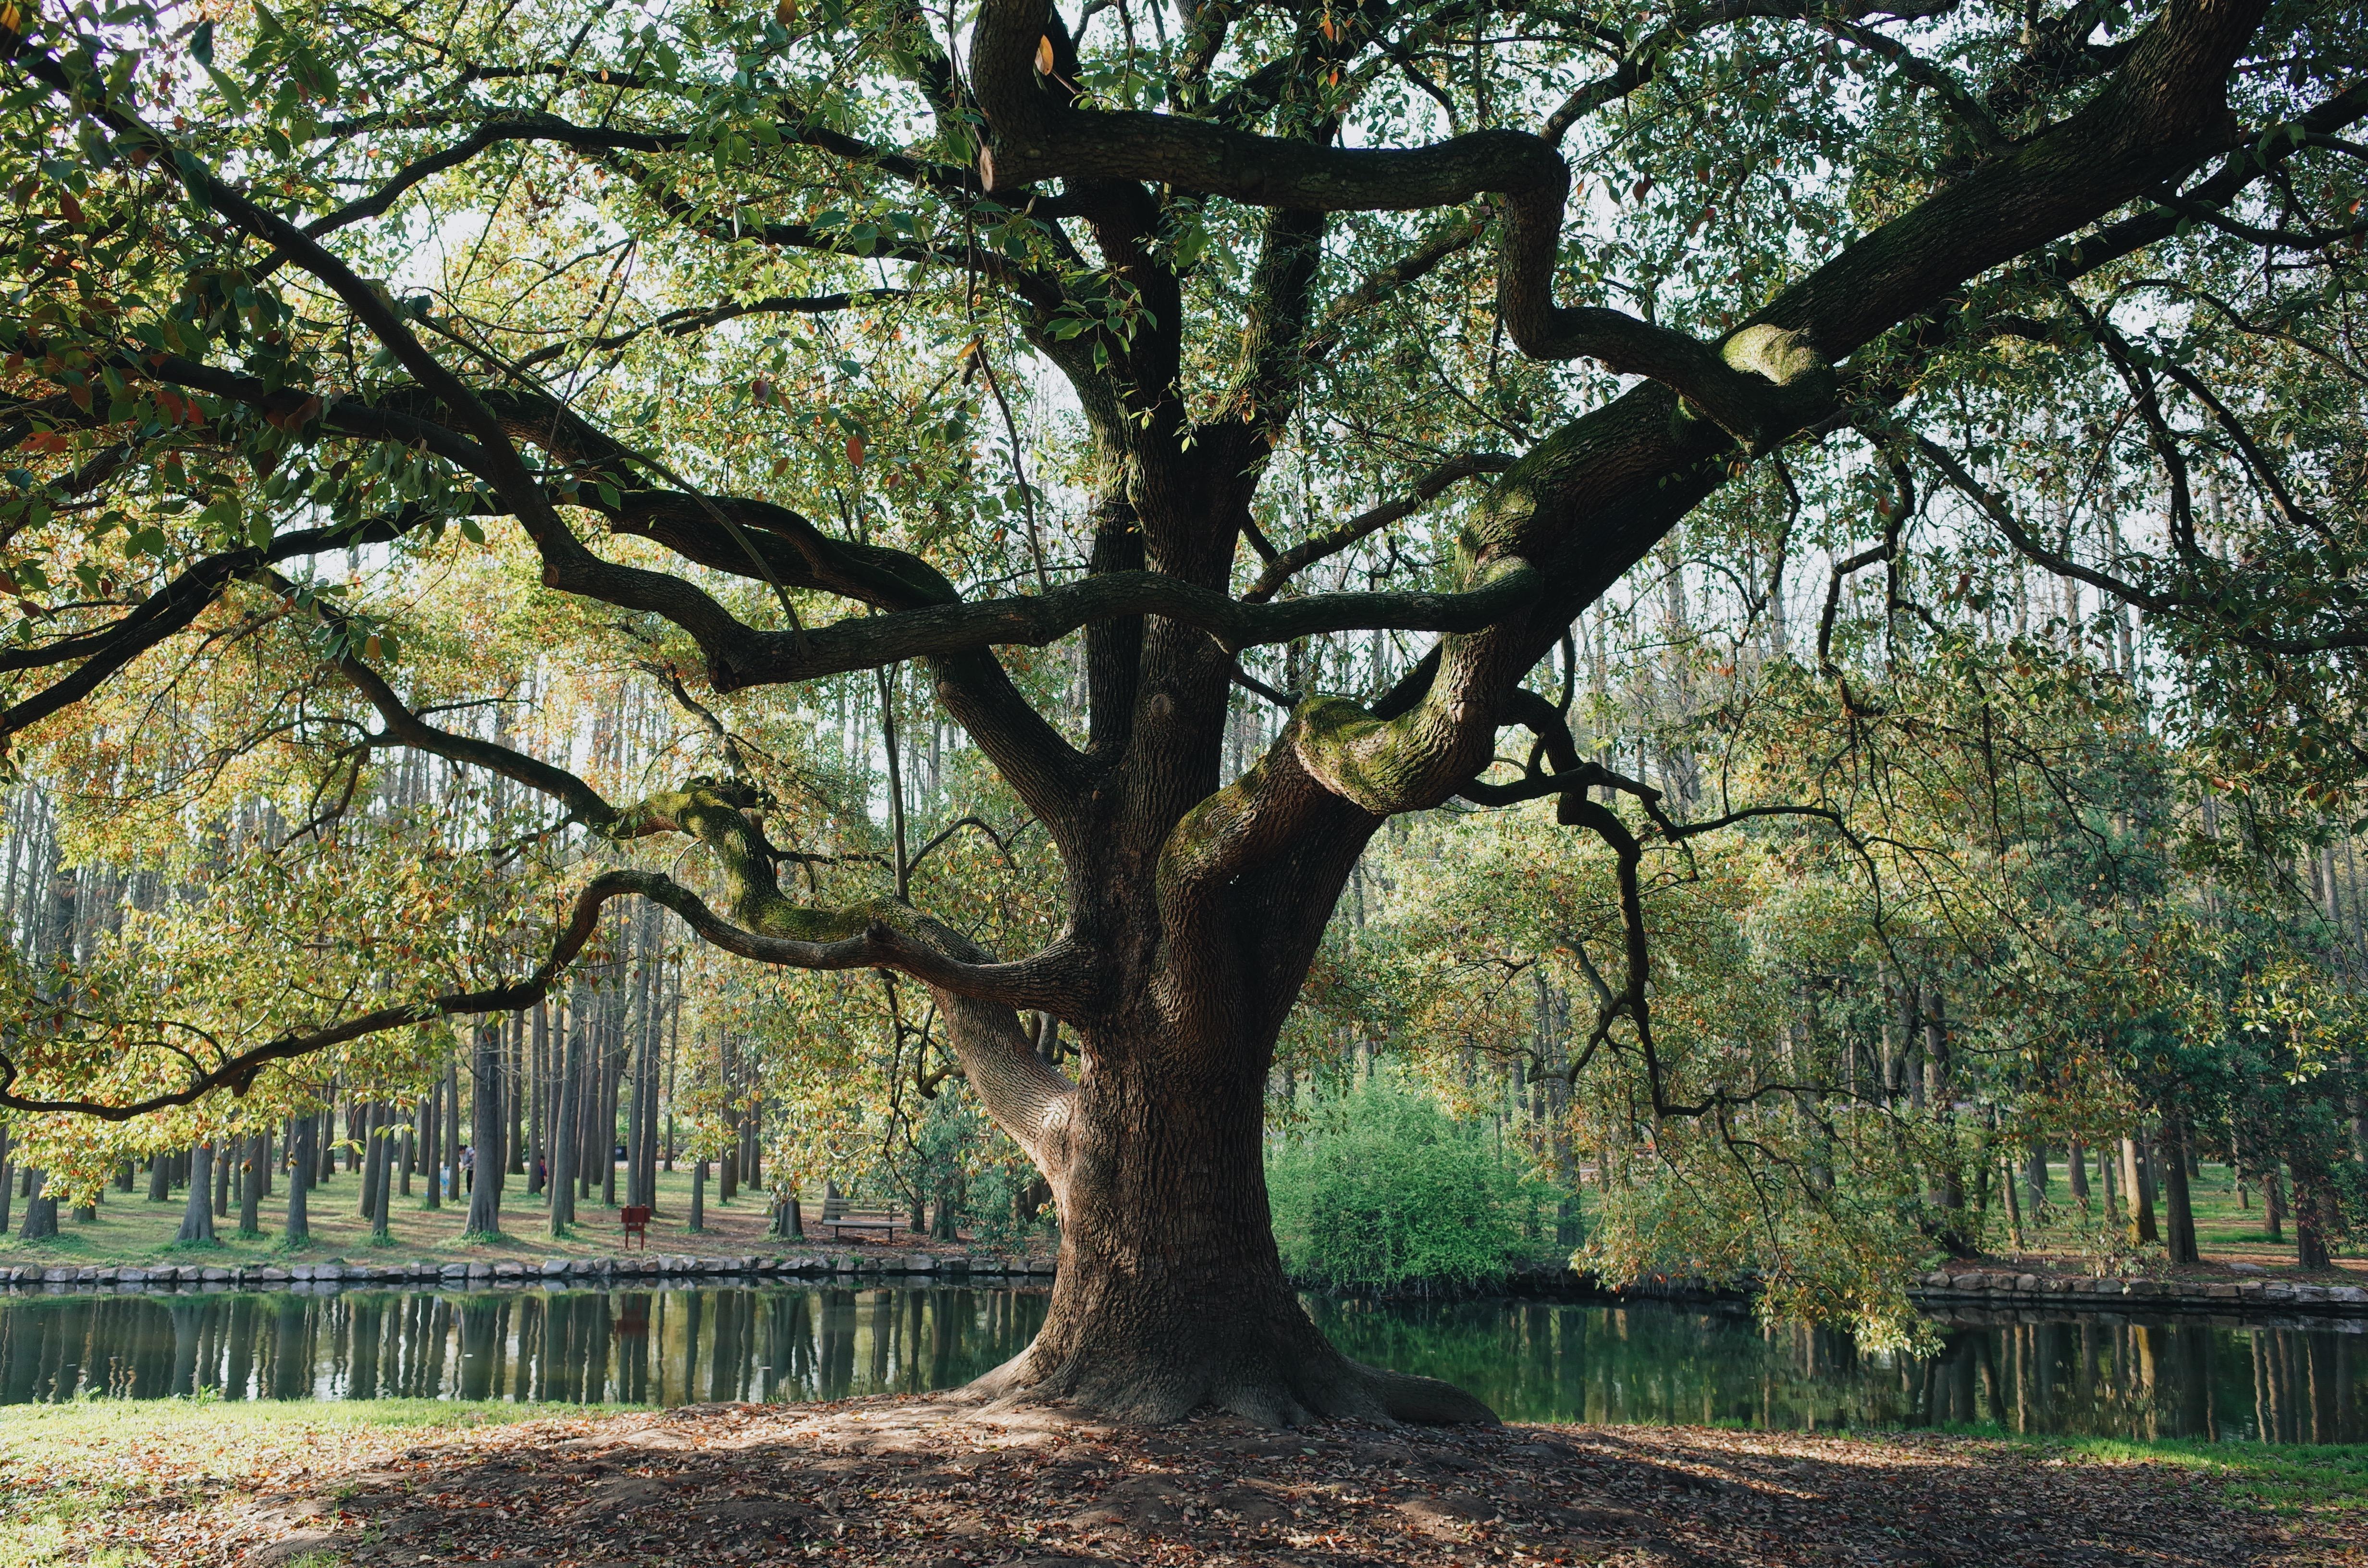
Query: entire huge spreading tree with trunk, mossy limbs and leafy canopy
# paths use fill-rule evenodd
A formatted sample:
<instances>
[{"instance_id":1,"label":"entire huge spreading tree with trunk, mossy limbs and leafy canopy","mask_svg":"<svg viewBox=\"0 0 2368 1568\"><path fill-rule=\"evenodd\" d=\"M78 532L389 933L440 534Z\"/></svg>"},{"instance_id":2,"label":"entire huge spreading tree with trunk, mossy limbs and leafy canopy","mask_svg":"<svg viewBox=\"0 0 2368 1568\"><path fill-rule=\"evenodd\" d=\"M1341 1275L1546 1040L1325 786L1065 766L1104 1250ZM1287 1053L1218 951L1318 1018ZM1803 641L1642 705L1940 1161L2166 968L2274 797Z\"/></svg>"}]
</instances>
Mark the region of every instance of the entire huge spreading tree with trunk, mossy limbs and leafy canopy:
<instances>
[{"instance_id":1,"label":"entire huge spreading tree with trunk, mossy limbs and leafy canopy","mask_svg":"<svg viewBox=\"0 0 2368 1568\"><path fill-rule=\"evenodd\" d=\"M1866 1322L2013 1137L2332 1172L2359 24L0 7L0 737L147 879L0 1106L417 1082L654 900L1044 1172L999 1390L1274 1419L1468 1414L1286 1324L1276 1049Z\"/></svg>"}]
</instances>

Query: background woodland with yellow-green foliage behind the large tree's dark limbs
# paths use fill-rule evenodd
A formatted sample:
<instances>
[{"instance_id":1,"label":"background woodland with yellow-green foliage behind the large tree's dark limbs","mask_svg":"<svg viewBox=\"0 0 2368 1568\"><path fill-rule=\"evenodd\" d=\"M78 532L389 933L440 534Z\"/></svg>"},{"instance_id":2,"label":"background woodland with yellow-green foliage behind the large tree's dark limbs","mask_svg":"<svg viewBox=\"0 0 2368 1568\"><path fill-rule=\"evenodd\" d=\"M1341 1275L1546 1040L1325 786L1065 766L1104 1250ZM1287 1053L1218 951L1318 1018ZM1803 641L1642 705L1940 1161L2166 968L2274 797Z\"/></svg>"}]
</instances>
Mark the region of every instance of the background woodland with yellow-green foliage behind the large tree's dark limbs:
<instances>
[{"instance_id":1,"label":"background woodland with yellow-green foliage behind the large tree's dark limbs","mask_svg":"<svg viewBox=\"0 0 2368 1568\"><path fill-rule=\"evenodd\" d=\"M438 12L438 36L476 59L438 92L509 104L502 59L564 54L594 26L559 9ZM1153 57L1165 7L1137 9L1085 7L1077 26L1101 40L1080 66L1094 92L1139 90L1127 62ZM2283 54L2238 71L2247 114L2276 118L2342 76L2349 12L2290 9ZM2110 40L2108 12L2084 9L2074 40ZM734 50L826 73L834 40L893 31L867 33L867 17L784 0L777 14L618 21L604 43L646 71L637 90L682 92ZM313 180L322 199L360 189L308 104L336 81L395 102L398 66L412 66L372 50L386 33L341 21L336 5L168 12L156 26L170 47L144 66L154 102L204 104L225 147L249 147L237 156L253 178ZM1745 19L1729 43L1665 59L1620 116L1572 137L1589 232L1575 275L1658 322L1717 332L1738 291L1771 291L1828 237L1897 211L1913 159L1951 156L1911 116L1949 95L1925 57L1852 19L1812 43L1788 26ZM1965 71L2003 47L1944 12L1892 31ZM1516 57L1471 64L1471 83L1449 83L1456 102L1544 114L1544 76ZM1771 78L1769 57L1814 71ZM699 92L689 102L710 102ZM1433 114L1418 83L1371 92L1385 123ZM424 102L386 123L440 123ZM881 135L897 123L860 95L836 114ZM291 116L315 152L258 130ZM727 123L718 109L708 140L663 156L765 156ZM1897 163L1864 156L1892 135ZM17 258L0 322L0 419L24 464L0 497L17 642L121 609L265 512L348 531L230 585L114 680L19 727L0 1016L26 1082L170 1099L189 1056L530 969L599 869L710 886L713 867L680 843L618 843L488 772L400 748L348 654L414 715L559 763L613 801L689 772L746 782L784 883L817 898L909 898L992 952L1054 938L1047 836L916 663L786 696L713 694L677 628L545 590L533 550L481 526L485 497L429 452L298 443L301 410L130 388L88 355L76 367L66 339L147 301L192 341L244 334L251 358L391 374L310 282L265 287L227 261L166 275L126 218L159 199L156 173L54 152L9 154L0 206ZM1909 1317L1911 1270L2018 1248L2025 1227L2053 1225L2100 1267L2193 1260L2195 1161L2233 1165L2304 1265L2368 1222L2368 753L2351 630L2368 550L2368 154L2297 128L2276 156L2259 211L2183 220L2077 287L1999 282L1980 353L1928 358L1885 407L1757 460L1532 673L1579 753L1620 779L1603 796L1639 841L1650 1037L1617 995L1617 855L1523 796L1544 741L1506 730L1497 784L1385 824L1269 1080L1286 1255L1340 1284L1480 1279L1572 1253L1610 1279L1755 1277L1771 1312L1883 1338ZM1025 258L1061 244L1056 216L933 208L848 175L834 206L817 185L798 197L798 220L831 244L779 249L708 244L727 220L739 237L736 208L677 232L680 213L637 189L618 159L564 144L455 161L388 199L398 223L358 227L353 263L419 332L488 377L559 388L587 422L668 452L694 490L765 495L1002 592L1087 566L1092 433L1044 343L1122 334L1141 301L1106 294L1106 315L1047 339L919 239L969 225L966 244ZM1373 263L1411 225L1352 213L1326 244ZM1705 230L1724 246L1717 272L1684 244ZM1241 308L1250 237L1253 213L1215 201L1163 234L1196 313ZM1238 595L1274 597L1288 578L1276 561L1298 566L1302 540L1291 595L1454 587L1459 540L1508 452L1624 384L1508 353L1489 265L1447 249L1418 287L1310 348L1321 398L1274 433L1255 502L1274 545L1243 552ZM1193 353L1210 362L1189 362L1186 381L1231 346ZM116 452L43 415L76 391L85 412L137 403L159 429L225 438ZM142 500L83 483L123 462L149 464ZM618 505L597 469L566 483L592 512ZM386 505L438 521L395 538L353 526ZM601 547L663 557L625 526ZM779 604L793 625L822 599L746 576L703 583L736 613ZM1305 696L1371 701L1428 644L1357 630L1246 649L1224 779L1260 765ZM1085 637L1002 658L1082 744ZM24 699L31 677L9 670ZM1047 1061L1075 1056L1042 1014L1032 1037ZM507 1191L478 1180L474 1201L429 1184L426 1203L471 1203L455 1229L580 1225L592 1203L646 1201L661 1163L713 1170L718 1201L765 1194L784 1232L798 1206L836 1196L942 1236L1058 1222L978 1108L926 990L886 971L736 962L654 905L611 907L530 1009L360 1035L237 1094L135 1118L19 1111L5 1135L26 1236L107 1184L161 1196L187 1180L187 1234L204 1244L201 1208L239 1213L256 1170L317 1165L336 1146L410 1149L367 1165L379 1213L412 1163L469 1149L481 1170L504 1165ZM1373 1158L1357 1165L1359 1149ZM2070 1170L2051 1177L2051 1158ZM1437 1258L1388 1241L1326 1251L1364 1222L1338 1191L1345 1161L1397 1161L1414 1210L1494 1229ZM194 1199L208 1182L211 1206ZM263 1225L256 1199L242 1222Z\"/></svg>"}]
</instances>

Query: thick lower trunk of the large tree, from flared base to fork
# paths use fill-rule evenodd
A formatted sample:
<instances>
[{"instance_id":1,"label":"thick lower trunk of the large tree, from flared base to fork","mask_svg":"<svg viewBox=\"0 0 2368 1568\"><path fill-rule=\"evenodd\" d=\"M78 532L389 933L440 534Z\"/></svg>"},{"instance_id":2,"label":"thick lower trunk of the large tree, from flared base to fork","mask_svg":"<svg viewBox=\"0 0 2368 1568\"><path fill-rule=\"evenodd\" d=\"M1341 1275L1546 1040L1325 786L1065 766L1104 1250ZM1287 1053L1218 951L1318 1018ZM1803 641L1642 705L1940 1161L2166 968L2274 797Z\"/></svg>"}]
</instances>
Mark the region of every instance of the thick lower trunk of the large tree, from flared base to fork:
<instances>
[{"instance_id":1,"label":"thick lower trunk of the large tree, from flared base to fork","mask_svg":"<svg viewBox=\"0 0 2368 1568\"><path fill-rule=\"evenodd\" d=\"M1201 1407L1269 1426L1494 1421L1449 1383L1347 1360L1310 1322L1267 1215L1265 1049L1089 1040L1082 1080L1040 1125L1021 1139L1061 1213L1051 1310L973 1395L1120 1421Z\"/></svg>"}]
</instances>

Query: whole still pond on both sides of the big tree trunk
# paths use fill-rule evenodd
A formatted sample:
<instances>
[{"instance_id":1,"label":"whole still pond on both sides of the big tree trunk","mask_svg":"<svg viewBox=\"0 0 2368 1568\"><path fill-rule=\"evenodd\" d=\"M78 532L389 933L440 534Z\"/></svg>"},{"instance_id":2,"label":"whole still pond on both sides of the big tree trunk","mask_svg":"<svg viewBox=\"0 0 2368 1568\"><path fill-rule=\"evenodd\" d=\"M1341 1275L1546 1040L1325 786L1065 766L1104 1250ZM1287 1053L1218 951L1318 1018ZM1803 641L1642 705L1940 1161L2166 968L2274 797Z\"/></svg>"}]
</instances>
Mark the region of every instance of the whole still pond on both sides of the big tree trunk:
<instances>
[{"instance_id":1,"label":"whole still pond on both sides of the big tree trunk","mask_svg":"<svg viewBox=\"0 0 2368 1568\"><path fill-rule=\"evenodd\" d=\"M2368 1336L2340 1326L2034 1315L1911 1357L1729 1305L1307 1305L1350 1355L1506 1419L2368 1440ZM21 1296L0 1300L0 1402L838 1400L964 1383L1042 1319L1044 1291L957 1286Z\"/></svg>"}]
</instances>

